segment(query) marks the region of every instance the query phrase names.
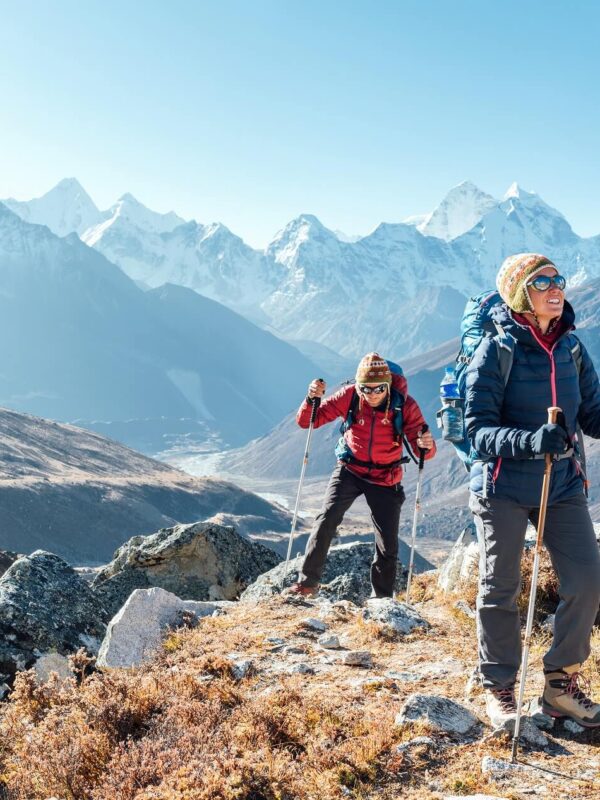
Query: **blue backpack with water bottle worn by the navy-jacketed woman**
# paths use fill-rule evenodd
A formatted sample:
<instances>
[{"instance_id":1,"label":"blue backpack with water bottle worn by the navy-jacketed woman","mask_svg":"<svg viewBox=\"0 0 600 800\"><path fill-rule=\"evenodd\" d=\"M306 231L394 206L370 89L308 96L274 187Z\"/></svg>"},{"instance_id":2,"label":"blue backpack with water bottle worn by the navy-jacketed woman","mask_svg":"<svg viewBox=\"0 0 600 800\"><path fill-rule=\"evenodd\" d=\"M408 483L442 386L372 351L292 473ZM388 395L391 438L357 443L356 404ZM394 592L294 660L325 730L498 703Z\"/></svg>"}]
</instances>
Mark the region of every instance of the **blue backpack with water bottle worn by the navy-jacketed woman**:
<instances>
[{"instance_id":1,"label":"blue backpack with water bottle worn by the navy-jacketed woman","mask_svg":"<svg viewBox=\"0 0 600 800\"><path fill-rule=\"evenodd\" d=\"M452 444L467 471L470 471L471 465L477 456L476 451L473 450L467 438L464 423L467 368L471 363L473 354L484 336L490 336L494 340L498 350L500 372L504 378L505 386L508 383L513 365L516 341L513 336L506 333L502 326L494 322L491 318L491 311L494 306L503 302L497 291L482 292L481 294L471 297L467 301L460 324L460 350L456 357L456 364L454 367L459 397L456 400L451 400L450 403L453 406L458 406L461 410L462 438L458 441L453 440ZM577 368L577 374L580 375L581 363L583 360L581 342L574 334L570 334L570 339L572 340L571 354ZM437 414L438 427L440 428L442 427L443 413L444 409L442 408ZM442 433L442 438L447 438L444 433ZM583 437L581 436L579 426L577 426L577 444L579 461L581 462L581 468L585 477L585 452L583 449Z\"/></svg>"}]
</instances>

